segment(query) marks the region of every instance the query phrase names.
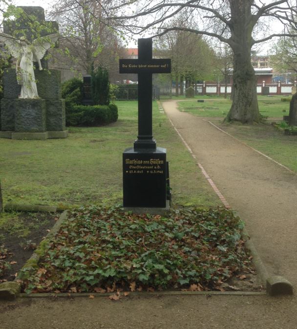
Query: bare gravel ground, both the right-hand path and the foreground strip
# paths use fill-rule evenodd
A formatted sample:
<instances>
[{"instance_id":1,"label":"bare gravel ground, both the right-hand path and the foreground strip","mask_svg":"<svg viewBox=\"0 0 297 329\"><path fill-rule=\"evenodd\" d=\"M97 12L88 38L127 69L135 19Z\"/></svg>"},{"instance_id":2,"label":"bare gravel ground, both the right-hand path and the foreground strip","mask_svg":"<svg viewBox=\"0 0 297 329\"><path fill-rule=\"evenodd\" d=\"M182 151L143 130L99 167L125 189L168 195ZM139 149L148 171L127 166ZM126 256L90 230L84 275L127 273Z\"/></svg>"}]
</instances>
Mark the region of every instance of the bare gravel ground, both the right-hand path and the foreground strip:
<instances>
[{"instance_id":1,"label":"bare gravel ground, both the right-hand path and the foreground strip","mask_svg":"<svg viewBox=\"0 0 297 329\"><path fill-rule=\"evenodd\" d=\"M163 103L220 192L246 222L270 275L297 284L297 175ZM177 137L178 138L178 137ZM199 168L197 167L197 170ZM0 329L296 329L296 296L154 296L0 302Z\"/></svg>"}]
</instances>

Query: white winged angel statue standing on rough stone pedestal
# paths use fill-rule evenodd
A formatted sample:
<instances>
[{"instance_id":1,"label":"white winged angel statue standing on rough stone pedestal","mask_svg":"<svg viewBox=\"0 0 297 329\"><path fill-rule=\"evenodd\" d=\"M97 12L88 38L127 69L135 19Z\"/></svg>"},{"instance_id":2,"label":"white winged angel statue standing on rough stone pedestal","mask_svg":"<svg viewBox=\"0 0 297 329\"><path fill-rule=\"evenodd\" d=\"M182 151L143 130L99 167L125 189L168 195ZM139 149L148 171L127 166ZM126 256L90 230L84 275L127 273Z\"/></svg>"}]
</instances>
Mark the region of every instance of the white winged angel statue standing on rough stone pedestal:
<instances>
[{"instance_id":1,"label":"white winged angel statue standing on rough stone pedestal","mask_svg":"<svg viewBox=\"0 0 297 329\"><path fill-rule=\"evenodd\" d=\"M58 34L50 34L30 43L25 37L17 39L0 32L0 40L7 45L11 55L17 58L17 81L21 85L19 98L40 98L37 93L33 62L37 62L39 70L42 70L40 60L58 38Z\"/></svg>"}]
</instances>

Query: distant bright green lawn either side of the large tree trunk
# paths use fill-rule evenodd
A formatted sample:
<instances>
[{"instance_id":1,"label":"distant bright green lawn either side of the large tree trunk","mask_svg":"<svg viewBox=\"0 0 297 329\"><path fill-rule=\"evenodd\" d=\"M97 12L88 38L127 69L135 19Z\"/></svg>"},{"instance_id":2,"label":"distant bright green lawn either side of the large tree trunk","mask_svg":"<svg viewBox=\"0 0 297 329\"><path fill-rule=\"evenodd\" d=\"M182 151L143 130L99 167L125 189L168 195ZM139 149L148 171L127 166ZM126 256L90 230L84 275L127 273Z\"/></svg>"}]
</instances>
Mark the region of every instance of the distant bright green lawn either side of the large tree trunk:
<instances>
[{"instance_id":1,"label":"distant bright green lawn either side of the large tree trunk","mask_svg":"<svg viewBox=\"0 0 297 329\"><path fill-rule=\"evenodd\" d=\"M176 98L178 99L178 98ZM202 117L225 117L229 112L232 101L223 97L200 96L197 100L181 100L178 105L182 112L190 112ZM283 115L289 115L290 102L281 102L281 96L258 96L259 111L263 116L282 118Z\"/></svg>"}]
</instances>

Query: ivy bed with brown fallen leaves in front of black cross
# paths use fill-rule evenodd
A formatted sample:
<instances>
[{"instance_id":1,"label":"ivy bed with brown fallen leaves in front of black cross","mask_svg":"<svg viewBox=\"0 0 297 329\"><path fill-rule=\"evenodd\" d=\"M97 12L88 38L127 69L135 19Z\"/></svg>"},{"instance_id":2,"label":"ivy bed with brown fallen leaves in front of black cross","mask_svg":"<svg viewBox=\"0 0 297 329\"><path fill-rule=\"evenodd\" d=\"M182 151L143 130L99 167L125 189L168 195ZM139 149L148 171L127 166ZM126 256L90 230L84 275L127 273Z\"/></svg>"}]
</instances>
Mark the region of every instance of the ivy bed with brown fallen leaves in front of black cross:
<instances>
[{"instance_id":1,"label":"ivy bed with brown fallen leaves in front of black cross","mask_svg":"<svg viewBox=\"0 0 297 329\"><path fill-rule=\"evenodd\" d=\"M22 289L220 289L239 271L252 271L242 227L225 208L182 208L162 217L82 207L69 213L38 266L22 269Z\"/></svg>"}]
</instances>

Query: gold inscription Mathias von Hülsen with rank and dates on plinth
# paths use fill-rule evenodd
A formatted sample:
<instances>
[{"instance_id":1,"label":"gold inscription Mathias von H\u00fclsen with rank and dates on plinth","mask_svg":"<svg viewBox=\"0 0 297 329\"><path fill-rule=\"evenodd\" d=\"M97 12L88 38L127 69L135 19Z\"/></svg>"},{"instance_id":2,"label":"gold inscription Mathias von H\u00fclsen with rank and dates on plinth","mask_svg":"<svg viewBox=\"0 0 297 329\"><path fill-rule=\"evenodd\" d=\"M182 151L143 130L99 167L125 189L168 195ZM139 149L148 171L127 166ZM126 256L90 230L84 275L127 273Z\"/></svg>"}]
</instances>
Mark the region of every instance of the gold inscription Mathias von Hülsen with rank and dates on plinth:
<instances>
[{"instance_id":1,"label":"gold inscription Mathias von H\u00fclsen with rank and dates on plinth","mask_svg":"<svg viewBox=\"0 0 297 329\"><path fill-rule=\"evenodd\" d=\"M164 160L160 159L149 159L149 160L138 160L138 159L126 159L125 164L127 165L126 174L163 174L164 169L160 165L164 165Z\"/></svg>"}]
</instances>

